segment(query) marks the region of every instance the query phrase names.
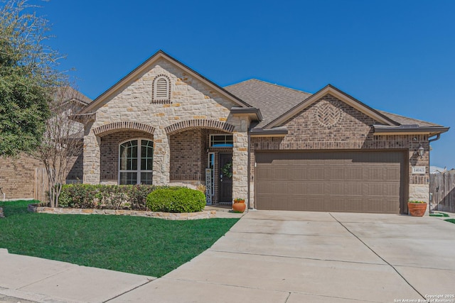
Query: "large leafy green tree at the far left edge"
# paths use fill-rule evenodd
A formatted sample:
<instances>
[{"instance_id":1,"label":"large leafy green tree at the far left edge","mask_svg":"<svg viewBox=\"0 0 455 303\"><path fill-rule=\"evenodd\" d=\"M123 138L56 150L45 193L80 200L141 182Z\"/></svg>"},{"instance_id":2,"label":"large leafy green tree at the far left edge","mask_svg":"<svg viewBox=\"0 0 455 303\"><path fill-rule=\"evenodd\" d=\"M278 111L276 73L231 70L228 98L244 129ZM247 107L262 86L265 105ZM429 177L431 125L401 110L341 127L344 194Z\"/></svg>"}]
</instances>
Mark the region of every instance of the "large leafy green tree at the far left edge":
<instances>
[{"instance_id":1,"label":"large leafy green tree at the far left edge","mask_svg":"<svg viewBox=\"0 0 455 303\"><path fill-rule=\"evenodd\" d=\"M60 55L45 45L48 20L28 0L0 0L0 155L40 145L55 89L67 85Z\"/></svg>"}]
</instances>

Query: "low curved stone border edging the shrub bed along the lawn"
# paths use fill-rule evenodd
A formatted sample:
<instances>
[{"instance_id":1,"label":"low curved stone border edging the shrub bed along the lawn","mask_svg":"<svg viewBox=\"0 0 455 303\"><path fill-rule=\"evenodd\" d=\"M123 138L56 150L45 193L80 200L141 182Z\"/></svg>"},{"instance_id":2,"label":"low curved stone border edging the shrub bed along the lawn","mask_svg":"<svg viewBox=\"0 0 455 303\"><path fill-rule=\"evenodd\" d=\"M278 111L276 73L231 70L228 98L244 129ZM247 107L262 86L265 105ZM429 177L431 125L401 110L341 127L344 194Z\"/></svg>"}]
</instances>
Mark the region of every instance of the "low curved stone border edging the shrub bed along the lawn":
<instances>
[{"instance_id":1,"label":"low curved stone border edging the shrub bed along the lawn","mask_svg":"<svg viewBox=\"0 0 455 303\"><path fill-rule=\"evenodd\" d=\"M28 204L28 211L44 214L106 214L117 216L146 216L165 220L196 220L215 218L216 211L197 211L190 213L167 213L161 211L136 211L128 209L70 209Z\"/></svg>"}]
</instances>

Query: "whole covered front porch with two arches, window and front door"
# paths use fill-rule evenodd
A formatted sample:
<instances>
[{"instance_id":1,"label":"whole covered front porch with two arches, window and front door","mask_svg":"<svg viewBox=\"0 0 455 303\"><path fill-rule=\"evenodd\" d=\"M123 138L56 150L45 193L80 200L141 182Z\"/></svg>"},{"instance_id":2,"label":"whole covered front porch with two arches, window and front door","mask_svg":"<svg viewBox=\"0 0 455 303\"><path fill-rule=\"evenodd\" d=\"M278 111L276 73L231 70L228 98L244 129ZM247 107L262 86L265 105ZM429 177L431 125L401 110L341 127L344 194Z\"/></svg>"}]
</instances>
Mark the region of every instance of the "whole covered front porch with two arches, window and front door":
<instances>
[{"instance_id":1,"label":"whole covered front porch with two arches, window and front door","mask_svg":"<svg viewBox=\"0 0 455 303\"><path fill-rule=\"evenodd\" d=\"M235 128L202 119L165 128L132 122L92 128L84 141L84 182L203 185L208 204L247 199L247 133Z\"/></svg>"}]
</instances>

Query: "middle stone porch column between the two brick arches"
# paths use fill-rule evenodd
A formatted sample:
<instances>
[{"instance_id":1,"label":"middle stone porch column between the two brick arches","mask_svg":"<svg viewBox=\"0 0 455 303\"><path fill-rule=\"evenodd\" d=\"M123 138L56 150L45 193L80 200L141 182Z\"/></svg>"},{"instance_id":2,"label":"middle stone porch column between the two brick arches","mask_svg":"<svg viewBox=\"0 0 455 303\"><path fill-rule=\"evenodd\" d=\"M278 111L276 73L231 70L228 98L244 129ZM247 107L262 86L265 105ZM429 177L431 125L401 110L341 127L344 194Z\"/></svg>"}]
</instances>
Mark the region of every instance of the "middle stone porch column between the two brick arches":
<instances>
[{"instance_id":1,"label":"middle stone porch column between the two brick arches","mask_svg":"<svg viewBox=\"0 0 455 303\"><path fill-rule=\"evenodd\" d=\"M169 146L169 137L164 129L156 129L154 133L154 185L169 184L171 163Z\"/></svg>"}]
</instances>

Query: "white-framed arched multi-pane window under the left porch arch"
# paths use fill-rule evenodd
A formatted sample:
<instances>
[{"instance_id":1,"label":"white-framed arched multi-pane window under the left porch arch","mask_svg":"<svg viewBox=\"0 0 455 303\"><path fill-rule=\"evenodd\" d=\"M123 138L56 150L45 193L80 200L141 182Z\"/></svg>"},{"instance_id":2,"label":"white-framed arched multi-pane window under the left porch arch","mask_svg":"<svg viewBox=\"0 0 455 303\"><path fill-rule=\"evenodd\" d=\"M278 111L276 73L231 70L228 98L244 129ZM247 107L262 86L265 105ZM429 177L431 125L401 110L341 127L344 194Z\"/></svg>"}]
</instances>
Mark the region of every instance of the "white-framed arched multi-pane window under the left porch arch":
<instances>
[{"instance_id":1,"label":"white-framed arched multi-pane window under the left porch arch","mask_svg":"<svg viewBox=\"0 0 455 303\"><path fill-rule=\"evenodd\" d=\"M119 184L151 184L153 155L153 141L134 139L120 144Z\"/></svg>"}]
</instances>

